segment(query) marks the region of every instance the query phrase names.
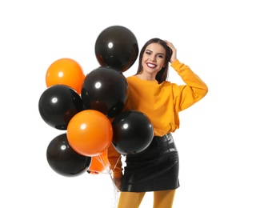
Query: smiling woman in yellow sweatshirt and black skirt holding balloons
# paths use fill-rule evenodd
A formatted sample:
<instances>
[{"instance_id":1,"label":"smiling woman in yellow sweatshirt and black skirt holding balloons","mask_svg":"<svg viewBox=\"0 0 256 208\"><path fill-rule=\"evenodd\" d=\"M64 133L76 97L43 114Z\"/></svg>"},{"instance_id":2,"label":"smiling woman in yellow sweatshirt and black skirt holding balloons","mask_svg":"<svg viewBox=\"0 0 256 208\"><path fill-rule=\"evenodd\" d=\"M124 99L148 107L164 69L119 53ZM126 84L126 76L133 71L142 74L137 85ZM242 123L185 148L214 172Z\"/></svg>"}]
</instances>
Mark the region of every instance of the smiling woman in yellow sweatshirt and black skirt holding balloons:
<instances>
[{"instance_id":1,"label":"smiling woman in yellow sweatshirt and black skirt holding balloons","mask_svg":"<svg viewBox=\"0 0 256 208\"><path fill-rule=\"evenodd\" d=\"M166 81L169 62L184 85ZM137 74L126 80L129 98L124 110L146 114L154 126L154 138L146 150L126 155L123 175L120 154L110 146L113 180L121 190L118 207L138 207L144 194L154 191L154 207L170 208L179 186L178 151L171 133L179 128L178 113L202 99L208 87L189 66L178 61L174 45L159 38L142 47Z\"/></svg>"}]
</instances>

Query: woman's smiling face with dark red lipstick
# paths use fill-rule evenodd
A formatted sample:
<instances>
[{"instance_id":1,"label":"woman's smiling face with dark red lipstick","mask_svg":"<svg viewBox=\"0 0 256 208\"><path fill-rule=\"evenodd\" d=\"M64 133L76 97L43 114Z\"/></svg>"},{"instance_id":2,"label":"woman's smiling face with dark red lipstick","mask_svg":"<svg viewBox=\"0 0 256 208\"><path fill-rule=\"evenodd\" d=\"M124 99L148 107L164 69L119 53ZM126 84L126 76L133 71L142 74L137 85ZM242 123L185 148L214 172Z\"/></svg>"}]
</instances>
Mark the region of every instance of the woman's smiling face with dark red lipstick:
<instances>
[{"instance_id":1,"label":"woman's smiling face with dark red lipstick","mask_svg":"<svg viewBox=\"0 0 256 208\"><path fill-rule=\"evenodd\" d=\"M142 73L157 74L165 66L166 50L159 43L151 43L146 46L142 56Z\"/></svg>"}]
</instances>

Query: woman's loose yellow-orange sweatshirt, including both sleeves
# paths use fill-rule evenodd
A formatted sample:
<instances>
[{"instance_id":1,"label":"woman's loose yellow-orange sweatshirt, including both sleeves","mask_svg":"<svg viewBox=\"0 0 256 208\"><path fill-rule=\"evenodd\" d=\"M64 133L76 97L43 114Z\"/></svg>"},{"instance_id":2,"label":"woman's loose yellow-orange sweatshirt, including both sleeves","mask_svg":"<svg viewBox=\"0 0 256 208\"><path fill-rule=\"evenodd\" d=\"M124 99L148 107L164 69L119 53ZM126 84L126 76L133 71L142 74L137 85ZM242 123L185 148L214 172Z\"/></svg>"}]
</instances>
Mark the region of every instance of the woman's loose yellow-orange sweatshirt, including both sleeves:
<instances>
[{"instance_id":1,"label":"woman's loose yellow-orange sweatshirt, including both sleeves","mask_svg":"<svg viewBox=\"0 0 256 208\"><path fill-rule=\"evenodd\" d=\"M174 61L171 66L177 71L185 85L178 86L168 81L146 81L135 76L126 78L129 97L124 110L138 110L150 118L154 135L163 136L179 128L178 112L192 106L208 92L208 87L190 70L189 66ZM108 158L114 178L122 177L120 154L110 145ZM118 160L119 158L119 160Z\"/></svg>"}]
</instances>

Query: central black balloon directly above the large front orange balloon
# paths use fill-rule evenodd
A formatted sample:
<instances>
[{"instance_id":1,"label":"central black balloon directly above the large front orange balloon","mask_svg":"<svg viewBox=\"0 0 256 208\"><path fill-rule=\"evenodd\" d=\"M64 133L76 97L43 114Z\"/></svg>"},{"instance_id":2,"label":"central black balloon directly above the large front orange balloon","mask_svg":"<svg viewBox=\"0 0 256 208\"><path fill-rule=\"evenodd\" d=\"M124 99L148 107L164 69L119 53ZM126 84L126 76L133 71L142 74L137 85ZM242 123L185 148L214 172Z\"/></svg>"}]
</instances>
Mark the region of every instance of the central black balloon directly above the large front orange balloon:
<instances>
[{"instance_id":1,"label":"central black balloon directly above the large front orange balloon","mask_svg":"<svg viewBox=\"0 0 256 208\"><path fill-rule=\"evenodd\" d=\"M81 97L86 109L98 110L113 118L126 104L128 83L119 70L100 66L86 75Z\"/></svg>"}]
</instances>

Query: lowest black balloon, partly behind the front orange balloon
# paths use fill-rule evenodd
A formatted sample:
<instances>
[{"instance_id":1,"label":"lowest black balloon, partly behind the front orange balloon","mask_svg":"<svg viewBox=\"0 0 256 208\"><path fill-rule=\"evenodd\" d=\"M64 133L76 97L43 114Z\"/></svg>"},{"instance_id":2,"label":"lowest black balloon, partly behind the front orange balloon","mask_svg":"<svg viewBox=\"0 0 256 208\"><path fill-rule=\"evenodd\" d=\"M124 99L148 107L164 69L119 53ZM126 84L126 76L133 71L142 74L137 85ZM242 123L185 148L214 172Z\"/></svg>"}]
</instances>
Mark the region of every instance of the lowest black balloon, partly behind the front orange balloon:
<instances>
[{"instance_id":1,"label":"lowest black balloon, partly behind the front orange balloon","mask_svg":"<svg viewBox=\"0 0 256 208\"><path fill-rule=\"evenodd\" d=\"M78 154L71 148L66 134L60 134L50 142L46 158L52 170L66 177L83 174L91 163L91 157Z\"/></svg>"}]
</instances>

